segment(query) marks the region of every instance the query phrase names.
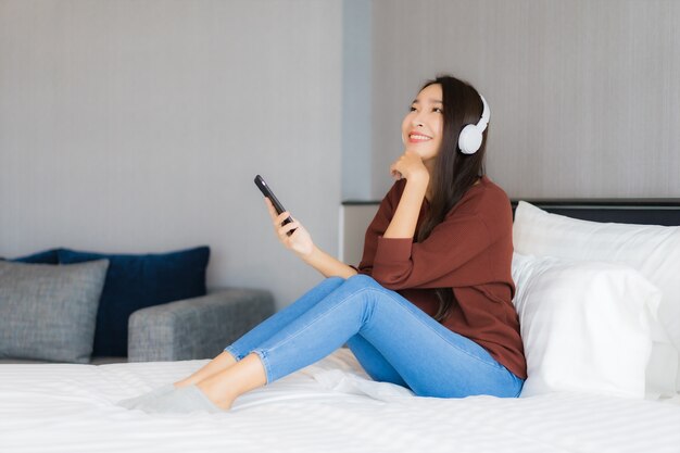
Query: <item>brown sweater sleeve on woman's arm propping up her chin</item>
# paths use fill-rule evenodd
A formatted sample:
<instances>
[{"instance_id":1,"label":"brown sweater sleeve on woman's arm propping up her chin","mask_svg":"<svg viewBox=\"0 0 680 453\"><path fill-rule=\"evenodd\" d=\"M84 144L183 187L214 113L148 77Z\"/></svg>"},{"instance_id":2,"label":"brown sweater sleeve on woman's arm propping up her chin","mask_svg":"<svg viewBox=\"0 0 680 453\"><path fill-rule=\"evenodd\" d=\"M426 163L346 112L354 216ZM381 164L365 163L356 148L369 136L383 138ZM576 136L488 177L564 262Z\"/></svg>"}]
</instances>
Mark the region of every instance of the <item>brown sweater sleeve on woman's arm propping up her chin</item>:
<instances>
[{"instance_id":1,"label":"brown sweater sleeve on woman's arm propping up her chin","mask_svg":"<svg viewBox=\"0 0 680 453\"><path fill-rule=\"evenodd\" d=\"M492 187L452 209L427 239L379 238L372 276L388 289L456 288L505 281L513 254L513 211Z\"/></svg>"}]
</instances>

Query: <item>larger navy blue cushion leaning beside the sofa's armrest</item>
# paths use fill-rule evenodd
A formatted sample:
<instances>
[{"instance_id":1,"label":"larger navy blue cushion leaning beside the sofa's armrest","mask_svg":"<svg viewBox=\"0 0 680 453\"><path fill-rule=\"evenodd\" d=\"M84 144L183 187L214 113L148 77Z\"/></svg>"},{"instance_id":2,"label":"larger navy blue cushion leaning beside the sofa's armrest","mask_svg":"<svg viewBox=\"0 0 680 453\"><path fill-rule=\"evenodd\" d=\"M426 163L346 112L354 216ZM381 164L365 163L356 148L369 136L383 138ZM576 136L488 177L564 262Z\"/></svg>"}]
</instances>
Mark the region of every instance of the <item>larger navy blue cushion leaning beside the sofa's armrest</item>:
<instances>
[{"instance_id":1,"label":"larger navy blue cushion leaning beside the sofa's armrest","mask_svg":"<svg viewBox=\"0 0 680 453\"><path fill-rule=\"evenodd\" d=\"M62 264L109 260L95 330L95 356L127 355L127 320L137 310L205 295L209 247L162 254L100 254L60 249Z\"/></svg>"}]
</instances>

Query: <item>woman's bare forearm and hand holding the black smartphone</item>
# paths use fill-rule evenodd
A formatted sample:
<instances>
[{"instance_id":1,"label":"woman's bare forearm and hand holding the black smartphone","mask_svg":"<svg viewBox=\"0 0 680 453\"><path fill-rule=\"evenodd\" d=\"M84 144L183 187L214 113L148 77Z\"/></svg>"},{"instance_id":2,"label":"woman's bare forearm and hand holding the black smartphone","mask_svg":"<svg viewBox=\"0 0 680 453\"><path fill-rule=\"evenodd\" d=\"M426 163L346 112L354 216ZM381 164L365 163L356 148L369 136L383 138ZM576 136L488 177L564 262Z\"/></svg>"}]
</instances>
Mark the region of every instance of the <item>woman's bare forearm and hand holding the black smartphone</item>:
<instances>
[{"instance_id":1,"label":"woman's bare forearm and hand holding the black smartphone","mask_svg":"<svg viewBox=\"0 0 680 453\"><path fill-rule=\"evenodd\" d=\"M285 212L277 215L269 199L265 198L265 202L269 211L269 216L274 223L276 235L284 247L293 251L302 261L314 267L325 277L349 278L356 274L356 270L353 267L336 260L333 256L316 247L307 230L295 218L293 218L293 222L289 224L281 225L284 219L286 219L290 214ZM288 232L293 229L294 231L288 236Z\"/></svg>"}]
</instances>

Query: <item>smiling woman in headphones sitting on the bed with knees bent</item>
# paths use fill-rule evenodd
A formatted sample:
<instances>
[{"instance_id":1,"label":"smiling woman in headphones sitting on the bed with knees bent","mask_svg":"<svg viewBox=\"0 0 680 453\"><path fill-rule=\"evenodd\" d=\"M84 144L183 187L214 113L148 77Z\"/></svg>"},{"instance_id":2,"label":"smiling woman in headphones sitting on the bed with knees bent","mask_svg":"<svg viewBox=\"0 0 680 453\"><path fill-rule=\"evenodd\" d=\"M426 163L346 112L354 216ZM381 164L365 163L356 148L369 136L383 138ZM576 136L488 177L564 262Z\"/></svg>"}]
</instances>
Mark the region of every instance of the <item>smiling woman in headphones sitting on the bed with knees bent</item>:
<instances>
[{"instance_id":1,"label":"smiling woman in headphones sitting on the bed with knees bent","mask_svg":"<svg viewBox=\"0 0 680 453\"><path fill-rule=\"evenodd\" d=\"M289 214L265 199L280 242L327 278L193 375L121 404L228 410L345 343L374 379L417 395L517 397L526 362L512 304L512 211L484 176L488 118L464 81L441 76L423 87L357 268L319 250L294 218L281 226Z\"/></svg>"}]
</instances>

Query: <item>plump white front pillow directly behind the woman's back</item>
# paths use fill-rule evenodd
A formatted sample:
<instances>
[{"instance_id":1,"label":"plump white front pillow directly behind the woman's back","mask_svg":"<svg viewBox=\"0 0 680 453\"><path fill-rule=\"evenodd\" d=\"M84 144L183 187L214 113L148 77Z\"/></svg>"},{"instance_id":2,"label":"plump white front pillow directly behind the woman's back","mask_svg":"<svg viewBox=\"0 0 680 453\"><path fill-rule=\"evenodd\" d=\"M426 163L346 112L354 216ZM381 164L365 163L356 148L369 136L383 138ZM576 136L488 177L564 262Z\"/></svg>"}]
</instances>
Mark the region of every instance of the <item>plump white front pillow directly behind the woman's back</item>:
<instances>
[{"instance_id":1,"label":"plump white front pillow directly behind the woman's back","mask_svg":"<svg viewBox=\"0 0 680 453\"><path fill-rule=\"evenodd\" d=\"M527 357L521 395L579 391L642 399L660 291L622 265L513 257Z\"/></svg>"}]
</instances>

